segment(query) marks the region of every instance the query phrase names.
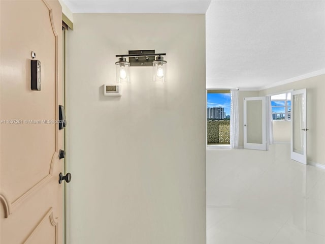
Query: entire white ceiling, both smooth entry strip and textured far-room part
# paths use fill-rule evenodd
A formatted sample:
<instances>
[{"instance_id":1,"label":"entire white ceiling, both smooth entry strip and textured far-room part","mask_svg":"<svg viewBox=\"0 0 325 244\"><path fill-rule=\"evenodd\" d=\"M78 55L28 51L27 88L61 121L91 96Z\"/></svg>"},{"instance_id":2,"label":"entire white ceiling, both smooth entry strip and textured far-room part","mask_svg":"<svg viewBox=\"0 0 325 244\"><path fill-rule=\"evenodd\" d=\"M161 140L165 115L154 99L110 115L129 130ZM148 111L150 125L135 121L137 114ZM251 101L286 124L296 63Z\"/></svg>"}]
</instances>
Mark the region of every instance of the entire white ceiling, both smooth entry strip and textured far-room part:
<instances>
[{"instance_id":1,"label":"entire white ceiling, both smooth entry strip and textured far-room part","mask_svg":"<svg viewBox=\"0 0 325 244\"><path fill-rule=\"evenodd\" d=\"M206 13L209 88L263 88L325 73L325 0L63 2L73 13Z\"/></svg>"}]
</instances>

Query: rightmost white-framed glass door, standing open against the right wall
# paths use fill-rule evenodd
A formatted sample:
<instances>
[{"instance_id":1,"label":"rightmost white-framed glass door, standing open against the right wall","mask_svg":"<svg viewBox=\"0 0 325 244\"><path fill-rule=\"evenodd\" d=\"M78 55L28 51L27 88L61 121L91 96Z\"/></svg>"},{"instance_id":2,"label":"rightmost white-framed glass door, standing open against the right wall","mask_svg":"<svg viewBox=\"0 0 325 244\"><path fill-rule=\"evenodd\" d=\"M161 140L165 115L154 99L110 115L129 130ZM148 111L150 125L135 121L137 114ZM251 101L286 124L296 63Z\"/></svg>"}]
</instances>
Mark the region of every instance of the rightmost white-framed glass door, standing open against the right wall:
<instances>
[{"instance_id":1,"label":"rightmost white-framed glass door, standing open against the right wall","mask_svg":"<svg viewBox=\"0 0 325 244\"><path fill-rule=\"evenodd\" d=\"M295 90L291 98L291 159L307 164L306 89Z\"/></svg>"}]
</instances>

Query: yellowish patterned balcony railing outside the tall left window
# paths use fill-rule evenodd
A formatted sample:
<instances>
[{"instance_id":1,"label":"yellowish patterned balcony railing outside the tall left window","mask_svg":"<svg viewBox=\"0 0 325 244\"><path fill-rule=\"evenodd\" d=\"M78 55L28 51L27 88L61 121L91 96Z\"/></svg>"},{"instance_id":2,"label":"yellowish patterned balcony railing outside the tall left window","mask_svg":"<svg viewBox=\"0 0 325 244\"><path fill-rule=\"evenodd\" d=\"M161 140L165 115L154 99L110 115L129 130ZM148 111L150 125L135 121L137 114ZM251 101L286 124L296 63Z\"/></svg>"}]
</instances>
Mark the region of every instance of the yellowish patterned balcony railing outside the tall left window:
<instances>
[{"instance_id":1,"label":"yellowish patterned balcony railing outside the tall left window","mask_svg":"<svg viewBox=\"0 0 325 244\"><path fill-rule=\"evenodd\" d=\"M208 144L230 144L230 120L208 120Z\"/></svg>"}]
</instances>

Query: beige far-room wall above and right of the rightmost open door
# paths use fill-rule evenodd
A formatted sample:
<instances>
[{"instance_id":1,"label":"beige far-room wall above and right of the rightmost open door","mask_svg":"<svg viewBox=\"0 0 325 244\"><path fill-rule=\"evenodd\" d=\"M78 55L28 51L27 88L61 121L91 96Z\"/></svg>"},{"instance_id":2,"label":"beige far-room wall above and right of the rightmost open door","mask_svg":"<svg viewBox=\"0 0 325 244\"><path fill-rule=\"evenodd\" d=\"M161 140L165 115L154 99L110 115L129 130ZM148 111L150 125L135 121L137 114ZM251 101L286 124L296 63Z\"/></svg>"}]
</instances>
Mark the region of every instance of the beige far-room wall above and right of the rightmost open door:
<instances>
[{"instance_id":1,"label":"beige far-room wall above and right of the rightmost open door","mask_svg":"<svg viewBox=\"0 0 325 244\"><path fill-rule=\"evenodd\" d=\"M308 161L325 164L325 75L261 90L259 96L278 93L290 89L307 88L307 155Z\"/></svg>"}]
</instances>

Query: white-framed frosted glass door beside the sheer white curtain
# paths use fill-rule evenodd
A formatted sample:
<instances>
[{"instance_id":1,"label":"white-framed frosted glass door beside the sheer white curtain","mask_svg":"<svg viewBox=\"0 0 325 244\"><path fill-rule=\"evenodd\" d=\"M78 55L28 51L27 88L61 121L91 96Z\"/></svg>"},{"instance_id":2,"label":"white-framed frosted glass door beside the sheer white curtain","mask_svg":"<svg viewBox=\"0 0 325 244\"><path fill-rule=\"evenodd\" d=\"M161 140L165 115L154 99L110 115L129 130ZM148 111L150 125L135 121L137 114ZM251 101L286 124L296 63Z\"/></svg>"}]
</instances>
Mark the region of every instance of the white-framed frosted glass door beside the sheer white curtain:
<instances>
[{"instance_id":1,"label":"white-framed frosted glass door beside the sheer white curtain","mask_svg":"<svg viewBox=\"0 0 325 244\"><path fill-rule=\"evenodd\" d=\"M244 148L267 150L266 97L244 98Z\"/></svg>"}]
</instances>

